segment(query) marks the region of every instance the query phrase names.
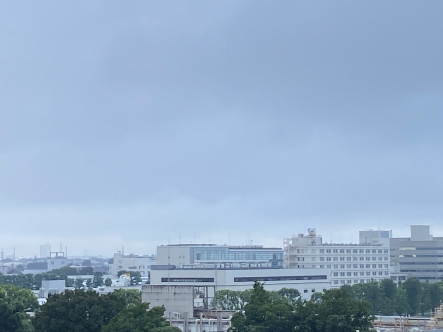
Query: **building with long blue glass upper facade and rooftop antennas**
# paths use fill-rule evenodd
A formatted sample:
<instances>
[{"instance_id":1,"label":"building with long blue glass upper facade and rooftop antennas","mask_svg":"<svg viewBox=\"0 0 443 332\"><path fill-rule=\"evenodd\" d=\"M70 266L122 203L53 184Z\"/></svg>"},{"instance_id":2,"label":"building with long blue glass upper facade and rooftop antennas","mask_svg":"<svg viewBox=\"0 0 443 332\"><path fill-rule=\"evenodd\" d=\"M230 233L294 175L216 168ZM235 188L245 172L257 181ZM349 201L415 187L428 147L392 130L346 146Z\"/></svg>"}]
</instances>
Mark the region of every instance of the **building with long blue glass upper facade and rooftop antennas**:
<instances>
[{"instance_id":1,"label":"building with long blue glass upper facade and rooftop antennas","mask_svg":"<svg viewBox=\"0 0 443 332\"><path fill-rule=\"evenodd\" d=\"M168 244L157 247L158 265L283 268L283 250L262 245Z\"/></svg>"}]
</instances>

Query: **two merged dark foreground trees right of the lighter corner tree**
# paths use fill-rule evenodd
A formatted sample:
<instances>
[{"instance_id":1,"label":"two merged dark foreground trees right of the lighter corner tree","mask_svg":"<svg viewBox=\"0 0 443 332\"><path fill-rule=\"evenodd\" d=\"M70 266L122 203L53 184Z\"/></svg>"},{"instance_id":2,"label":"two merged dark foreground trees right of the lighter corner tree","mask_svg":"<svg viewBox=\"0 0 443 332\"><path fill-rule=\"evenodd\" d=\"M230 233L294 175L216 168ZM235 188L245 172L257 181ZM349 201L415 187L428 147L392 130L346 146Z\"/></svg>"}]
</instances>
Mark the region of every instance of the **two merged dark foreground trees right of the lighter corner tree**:
<instances>
[{"instance_id":1,"label":"two merged dark foreground trees right of the lighter corner tree","mask_svg":"<svg viewBox=\"0 0 443 332\"><path fill-rule=\"evenodd\" d=\"M162 317L164 307L149 309L138 290L118 289L107 295L65 291L50 296L35 313L36 332L179 332Z\"/></svg>"}]
</instances>

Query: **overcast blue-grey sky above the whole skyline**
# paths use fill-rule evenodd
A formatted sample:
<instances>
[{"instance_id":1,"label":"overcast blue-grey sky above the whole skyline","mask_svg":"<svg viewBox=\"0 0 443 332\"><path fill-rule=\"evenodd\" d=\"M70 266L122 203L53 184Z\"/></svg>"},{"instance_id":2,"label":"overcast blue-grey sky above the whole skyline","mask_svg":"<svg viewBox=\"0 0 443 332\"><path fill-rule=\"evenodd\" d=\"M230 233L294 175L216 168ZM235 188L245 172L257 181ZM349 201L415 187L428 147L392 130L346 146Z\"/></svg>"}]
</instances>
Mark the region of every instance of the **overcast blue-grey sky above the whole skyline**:
<instances>
[{"instance_id":1,"label":"overcast blue-grey sky above the whole skyline","mask_svg":"<svg viewBox=\"0 0 443 332\"><path fill-rule=\"evenodd\" d=\"M1 2L1 247L443 236L442 15L440 0Z\"/></svg>"}]
</instances>

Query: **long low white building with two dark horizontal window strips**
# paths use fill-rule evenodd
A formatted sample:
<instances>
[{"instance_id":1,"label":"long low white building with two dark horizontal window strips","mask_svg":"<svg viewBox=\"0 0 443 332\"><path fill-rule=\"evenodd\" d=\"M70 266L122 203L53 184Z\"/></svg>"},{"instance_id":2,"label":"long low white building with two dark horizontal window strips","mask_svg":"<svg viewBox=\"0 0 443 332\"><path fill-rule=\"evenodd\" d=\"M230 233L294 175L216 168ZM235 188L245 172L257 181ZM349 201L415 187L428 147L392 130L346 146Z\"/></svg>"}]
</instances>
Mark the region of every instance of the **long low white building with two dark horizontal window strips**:
<instances>
[{"instance_id":1,"label":"long low white building with two dark horizontal window strips","mask_svg":"<svg viewBox=\"0 0 443 332\"><path fill-rule=\"evenodd\" d=\"M171 267L172 268L172 267ZM152 270L151 285L191 286L212 289L209 298L221 289L246 290L254 281L265 282L269 291L296 288L303 299L330 288L328 269L172 269Z\"/></svg>"}]
</instances>

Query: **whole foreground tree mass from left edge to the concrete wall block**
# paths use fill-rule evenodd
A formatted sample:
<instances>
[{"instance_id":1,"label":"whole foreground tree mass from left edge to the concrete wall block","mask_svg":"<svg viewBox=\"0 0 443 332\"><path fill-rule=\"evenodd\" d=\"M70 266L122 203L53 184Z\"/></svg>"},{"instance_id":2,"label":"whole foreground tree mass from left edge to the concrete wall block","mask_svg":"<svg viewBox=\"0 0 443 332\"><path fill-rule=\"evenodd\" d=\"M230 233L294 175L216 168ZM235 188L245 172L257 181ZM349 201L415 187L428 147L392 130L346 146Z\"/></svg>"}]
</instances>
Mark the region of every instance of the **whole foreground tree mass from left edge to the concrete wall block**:
<instances>
[{"instance_id":1,"label":"whole foreground tree mass from left edge to the concrete wall block","mask_svg":"<svg viewBox=\"0 0 443 332\"><path fill-rule=\"evenodd\" d=\"M31 317L26 311L34 311ZM28 289L0 285L0 331L20 332L180 332L163 318L164 307L149 309L138 290L119 289L107 295L65 291L38 306Z\"/></svg>"}]
</instances>

